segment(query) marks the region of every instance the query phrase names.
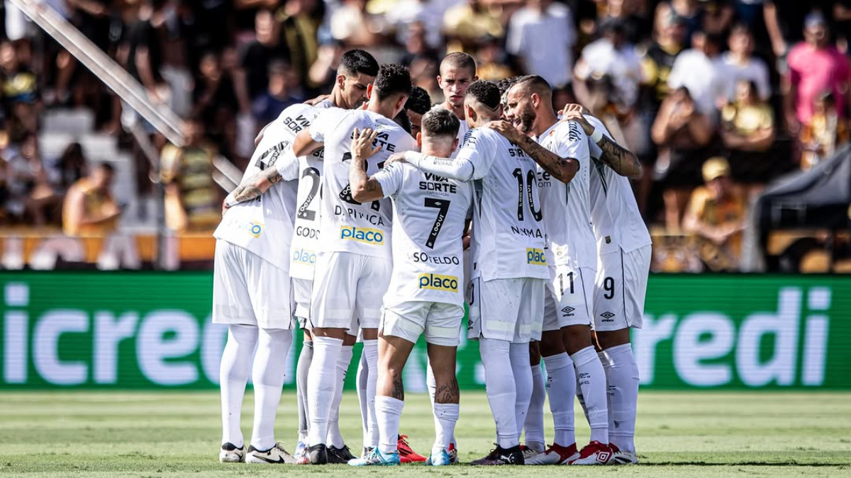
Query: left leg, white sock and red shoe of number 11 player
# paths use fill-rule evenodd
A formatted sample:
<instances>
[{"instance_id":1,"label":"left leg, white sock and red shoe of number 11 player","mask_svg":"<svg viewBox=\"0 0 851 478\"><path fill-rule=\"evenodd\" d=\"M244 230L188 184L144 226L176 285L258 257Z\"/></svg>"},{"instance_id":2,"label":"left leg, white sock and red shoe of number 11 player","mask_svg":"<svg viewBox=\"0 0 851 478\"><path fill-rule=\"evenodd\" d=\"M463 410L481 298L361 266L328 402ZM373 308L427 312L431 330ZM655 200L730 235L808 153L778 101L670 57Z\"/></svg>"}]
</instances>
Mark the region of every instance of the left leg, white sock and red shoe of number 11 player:
<instances>
[{"instance_id":1,"label":"left leg, white sock and red shoe of number 11 player","mask_svg":"<svg viewBox=\"0 0 851 478\"><path fill-rule=\"evenodd\" d=\"M561 330L541 333L538 344L546 368L547 393L556 434L545 452L529 458L527 464L568 464L579 458L574 429L574 363L564 350Z\"/></svg>"}]
</instances>

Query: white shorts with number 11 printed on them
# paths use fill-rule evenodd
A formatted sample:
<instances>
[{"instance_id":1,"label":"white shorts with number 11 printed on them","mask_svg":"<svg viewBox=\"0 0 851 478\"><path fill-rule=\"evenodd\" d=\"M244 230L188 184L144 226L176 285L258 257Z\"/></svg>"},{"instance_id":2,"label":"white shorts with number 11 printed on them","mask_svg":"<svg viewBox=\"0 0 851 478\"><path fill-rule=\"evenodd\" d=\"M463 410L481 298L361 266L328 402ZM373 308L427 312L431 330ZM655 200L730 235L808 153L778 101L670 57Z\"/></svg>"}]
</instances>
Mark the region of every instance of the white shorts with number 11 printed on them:
<instances>
[{"instance_id":1,"label":"white shorts with number 11 printed on them","mask_svg":"<svg viewBox=\"0 0 851 478\"><path fill-rule=\"evenodd\" d=\"M572 325L593 327L591 313L594 294L594 270L569 265L550 268L550 282L546 283L544 299L544 330L558 330Z\"/></svg>"}]
</instances>

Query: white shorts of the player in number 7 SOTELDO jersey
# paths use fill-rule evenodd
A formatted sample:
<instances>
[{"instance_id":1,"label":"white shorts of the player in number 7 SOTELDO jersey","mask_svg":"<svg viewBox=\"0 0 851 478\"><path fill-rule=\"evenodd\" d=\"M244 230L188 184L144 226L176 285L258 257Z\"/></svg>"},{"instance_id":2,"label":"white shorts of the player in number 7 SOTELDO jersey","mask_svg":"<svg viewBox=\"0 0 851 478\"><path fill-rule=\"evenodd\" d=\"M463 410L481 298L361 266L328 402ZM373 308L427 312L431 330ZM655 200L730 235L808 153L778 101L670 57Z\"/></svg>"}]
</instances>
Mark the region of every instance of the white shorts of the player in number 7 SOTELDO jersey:
<instances>
[{"instance_id":1,"label":"white shorts of the player in number 7 SOTELDO jersey","mask_svg":"<svg viewBox=\"0 0 851 478\"><path fill-rule=\"evenodd\" d=\"M429 344L457 347L462 319L464 307L460 305L410 300L385 305L380 330L412 344L425 333Z\"/></svg>"}]
</instances>

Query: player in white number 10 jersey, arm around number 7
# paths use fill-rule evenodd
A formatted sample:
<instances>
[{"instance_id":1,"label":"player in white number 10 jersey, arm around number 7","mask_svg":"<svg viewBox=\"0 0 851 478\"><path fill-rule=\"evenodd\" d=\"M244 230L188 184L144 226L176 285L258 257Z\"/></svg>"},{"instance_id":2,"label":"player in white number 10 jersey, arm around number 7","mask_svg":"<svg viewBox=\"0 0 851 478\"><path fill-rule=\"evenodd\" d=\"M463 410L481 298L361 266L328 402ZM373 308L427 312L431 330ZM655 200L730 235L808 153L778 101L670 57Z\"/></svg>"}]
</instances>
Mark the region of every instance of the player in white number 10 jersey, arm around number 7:
<instances>
[{"instance_id":1,"label":"player in white number 10 jersey, arm around number 7","mask_svg":"<svg viewBox=\"0 0 851 478\"><path fill-rule=\"evenodd\" d=\"M473 463L523 464L518 424L523 424L532 389L528 342L540 338L549 277L535 166L520 148L485 128L502 115L494 83L472 83L464 108L468 125L475 129L454 160L412 152L404 158L426 173L477 179L468 337L479 341L498 443ZM566 161L552 161L551 168L559 175L572 174Z\"/></svg>"}]
</instances>

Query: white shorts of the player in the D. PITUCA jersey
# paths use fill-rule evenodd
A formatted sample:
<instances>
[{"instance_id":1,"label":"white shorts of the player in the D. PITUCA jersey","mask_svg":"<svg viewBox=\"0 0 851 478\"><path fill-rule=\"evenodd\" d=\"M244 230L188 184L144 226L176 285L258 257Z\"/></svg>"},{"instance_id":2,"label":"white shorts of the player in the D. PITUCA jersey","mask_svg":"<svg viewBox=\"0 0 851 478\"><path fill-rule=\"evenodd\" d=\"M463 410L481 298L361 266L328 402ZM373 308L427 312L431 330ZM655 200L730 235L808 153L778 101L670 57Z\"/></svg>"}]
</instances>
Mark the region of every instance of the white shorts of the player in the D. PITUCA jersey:
<instances>
[{"instance_id":1,"label":"white shorts of the player in the D. PITUCA jersey","mask_svg":"<svg viewBox=\"0 0 851 478\"><path fill-rule=\"evenodd\" d=\"M389 259L357 253L317 253L308 328L378 328L390 286Z\"/></svg>"}]
</instances>

